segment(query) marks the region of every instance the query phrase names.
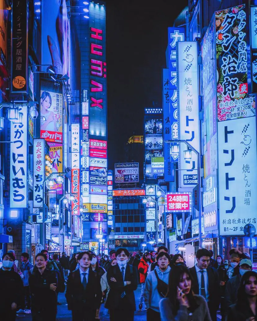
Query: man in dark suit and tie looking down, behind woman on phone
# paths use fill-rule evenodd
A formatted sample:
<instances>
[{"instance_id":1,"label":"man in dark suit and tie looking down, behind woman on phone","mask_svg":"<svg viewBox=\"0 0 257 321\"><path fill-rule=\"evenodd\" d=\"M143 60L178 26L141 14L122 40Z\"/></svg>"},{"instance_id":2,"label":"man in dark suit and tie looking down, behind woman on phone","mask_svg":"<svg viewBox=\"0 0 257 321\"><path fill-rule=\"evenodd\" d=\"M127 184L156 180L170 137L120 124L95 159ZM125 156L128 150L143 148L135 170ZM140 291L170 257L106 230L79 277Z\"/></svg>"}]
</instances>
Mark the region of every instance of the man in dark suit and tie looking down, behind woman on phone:
<instances>
[{"instance_id":1,"label":"man in dark suit and tie looking down, behind woman on phone","mask_svg":"<svg viewBox=\"0 0 257 321\"><path fill-rule=\"evenodd\" d=\"M193 277L193 292L203 296L208 302L212 321L217 321L217 309L220 303L218 271L208 266L211 254L206 248L196 252L197 264L189 270Z\"/></svg>"}]
</instances>

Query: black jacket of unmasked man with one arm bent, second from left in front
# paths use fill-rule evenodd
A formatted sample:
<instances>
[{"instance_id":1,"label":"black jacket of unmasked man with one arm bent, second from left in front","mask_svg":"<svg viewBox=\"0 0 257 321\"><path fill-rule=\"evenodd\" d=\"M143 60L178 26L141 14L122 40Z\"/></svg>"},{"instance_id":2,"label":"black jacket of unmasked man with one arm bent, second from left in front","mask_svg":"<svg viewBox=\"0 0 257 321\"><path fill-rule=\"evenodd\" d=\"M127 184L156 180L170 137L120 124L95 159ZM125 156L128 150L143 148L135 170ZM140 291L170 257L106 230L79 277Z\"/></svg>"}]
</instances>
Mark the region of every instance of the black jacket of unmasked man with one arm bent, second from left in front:
<instances>
[{"instance_id":1,"label":"black jacket of unmasked man with one arm bent, second from left in front","mask_svg":"<svg viewBox=\"0 0 257 321\"><path fill-rule=\"evenodd\" d=\"M56 283L57 291L50 290L50 284ZM34 271L29 278L32 311L57 311L58 275L56 271L45 269L43 274Z\"/></svg>"}]
</instances>

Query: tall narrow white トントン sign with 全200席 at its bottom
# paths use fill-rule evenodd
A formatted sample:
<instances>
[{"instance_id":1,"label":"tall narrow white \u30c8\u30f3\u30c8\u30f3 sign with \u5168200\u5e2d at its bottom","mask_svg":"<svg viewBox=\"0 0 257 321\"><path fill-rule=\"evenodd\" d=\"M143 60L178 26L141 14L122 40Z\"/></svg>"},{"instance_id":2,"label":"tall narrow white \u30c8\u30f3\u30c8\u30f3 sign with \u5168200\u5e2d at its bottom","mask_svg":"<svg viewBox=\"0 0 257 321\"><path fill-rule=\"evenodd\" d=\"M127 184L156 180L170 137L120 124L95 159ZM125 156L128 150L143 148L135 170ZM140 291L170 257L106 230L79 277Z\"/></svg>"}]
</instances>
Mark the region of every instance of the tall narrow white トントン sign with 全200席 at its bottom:
<instances>
[{"instance_id":1,"label":"tall narrow white \u30c8\u30f3\u30c8\u30f3 sign with \u5168200\u5e2d at its bottom","mask_svg":"<svg viewBox=\"0 0 257 321\"><path fill-rule=\"evenodd\" d=\"M178 98L179 98L179 139L186 140L199 151L199 93L198 55L196 41L178 41ZM188 147L180 144L179 186L194 187L197 184L197 155L184 159Z\"/></svg>"}]
</instances>

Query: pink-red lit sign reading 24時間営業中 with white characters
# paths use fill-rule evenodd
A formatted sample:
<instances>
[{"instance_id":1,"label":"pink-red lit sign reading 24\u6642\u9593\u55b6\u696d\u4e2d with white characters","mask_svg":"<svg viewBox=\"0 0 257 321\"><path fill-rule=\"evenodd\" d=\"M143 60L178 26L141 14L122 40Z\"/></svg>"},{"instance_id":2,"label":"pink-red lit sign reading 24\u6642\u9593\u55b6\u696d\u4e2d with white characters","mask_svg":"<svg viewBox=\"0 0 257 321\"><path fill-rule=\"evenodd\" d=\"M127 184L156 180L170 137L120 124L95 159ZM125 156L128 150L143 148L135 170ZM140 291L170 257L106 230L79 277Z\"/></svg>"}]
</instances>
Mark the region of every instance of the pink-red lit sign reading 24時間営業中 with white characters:
<instances>
[{"instance_id":1,"label":"pink-red lit sign reading 24\u6642\u9593\u55b6\u696d\u4e2d with white characters","mask_svg":"<svg viewBox=\"0 0 257 321\"><path fill-rule=\"evenodd\" d=\"M191 212L191 193L166 194L166 212Z\"/></svg>"}]
</instances>

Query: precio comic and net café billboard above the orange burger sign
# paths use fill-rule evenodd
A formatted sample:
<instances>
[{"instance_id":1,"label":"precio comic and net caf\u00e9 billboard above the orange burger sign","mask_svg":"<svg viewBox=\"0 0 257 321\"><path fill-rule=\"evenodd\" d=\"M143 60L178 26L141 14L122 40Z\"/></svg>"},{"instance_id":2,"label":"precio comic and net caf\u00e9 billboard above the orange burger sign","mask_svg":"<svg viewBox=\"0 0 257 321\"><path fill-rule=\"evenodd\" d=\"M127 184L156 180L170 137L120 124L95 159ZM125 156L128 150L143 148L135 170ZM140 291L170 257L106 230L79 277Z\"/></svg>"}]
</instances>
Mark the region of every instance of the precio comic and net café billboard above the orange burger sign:
<instances>
[{"instance_id":1,"label":"precio comic and net caf\u00e9 billboard above the orange burger sign","mask_svg":"<svg viewBox=\"0 0 257 321\"><path fill-rule=\"evenodd\" d=\"M116 163L115 183L138 182L139 163Z\"/></svg>"}]
</instances>

